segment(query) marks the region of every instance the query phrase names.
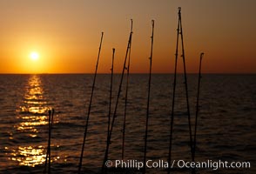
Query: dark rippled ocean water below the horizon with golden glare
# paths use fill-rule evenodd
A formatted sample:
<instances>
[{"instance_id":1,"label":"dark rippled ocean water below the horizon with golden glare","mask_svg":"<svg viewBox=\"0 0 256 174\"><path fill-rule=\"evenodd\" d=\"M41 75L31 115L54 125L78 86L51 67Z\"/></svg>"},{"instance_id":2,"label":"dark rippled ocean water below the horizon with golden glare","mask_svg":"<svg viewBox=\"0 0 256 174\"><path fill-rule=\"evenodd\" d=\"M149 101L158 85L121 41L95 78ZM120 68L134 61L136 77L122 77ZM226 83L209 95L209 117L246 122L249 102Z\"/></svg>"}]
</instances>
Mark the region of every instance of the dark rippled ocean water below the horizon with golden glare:
<instances>
[{"instance_id":1,"label":"dark rippled ocean water below the horizon with golden glare","mask_svg":"<svg viewBox=\"0 0 256 174\"><path fill-rule=\"evenodd\" d=\"M113 105L120 75L114 76ZM0 75L0 173L42 173L48 110L56 113L51 138L52 173L77 173L93 75ZM191 160L183 76L179 75L172 159ZM192 129L197 75L188 75ZM152 76L147 159L167 161L173 76ZM148 75L131 75L125 160L143 161ZM196 161L250 162L250 169L199 169L197 173L256 173L256 75L203 75ZM110 75L98 75L92 101L84 173L98 173L104 159ZM121 159L125 88L118 105L109 159ZM109 173L120 173L110 171ZM136 173L127 170L126 173ZM163 168L147 173L166 173ZM176 165L173 173L191 173Z\"/></svg>"}]
</instances>

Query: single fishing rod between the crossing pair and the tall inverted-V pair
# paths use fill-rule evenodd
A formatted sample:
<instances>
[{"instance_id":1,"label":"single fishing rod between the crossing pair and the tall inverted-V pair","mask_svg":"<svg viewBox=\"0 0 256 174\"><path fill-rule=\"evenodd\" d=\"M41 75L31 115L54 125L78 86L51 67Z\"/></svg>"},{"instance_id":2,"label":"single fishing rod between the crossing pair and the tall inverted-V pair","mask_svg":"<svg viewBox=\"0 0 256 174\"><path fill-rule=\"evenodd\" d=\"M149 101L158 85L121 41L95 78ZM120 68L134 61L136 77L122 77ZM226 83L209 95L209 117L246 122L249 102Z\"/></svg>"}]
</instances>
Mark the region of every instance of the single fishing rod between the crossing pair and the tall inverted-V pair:
<instances>
[{"instance_id":1,"label":"single fishing rod between the crossing pair and the tall inverted-V pair","mask_svg":"<svg viewBox=\"0 0 256 174\"><path fill-rule=\"evenodd\" d=\"M152 84L152 56L153 56L153 42L154 42L154 25L155 22L152 20L152 47L151 47L151 57L150 59L150 70L149 70L149 80L148 80L148 93L147 93L147 104L146 104L146 118L145 118L145 145L144 145L144 167L143 173L145 173L146 167L146 150L147 150L147 133L148 133L148 120L149 120L149 107L150 107L150 97L151 97L151 84Z\"/></svg>"}]
</instances>

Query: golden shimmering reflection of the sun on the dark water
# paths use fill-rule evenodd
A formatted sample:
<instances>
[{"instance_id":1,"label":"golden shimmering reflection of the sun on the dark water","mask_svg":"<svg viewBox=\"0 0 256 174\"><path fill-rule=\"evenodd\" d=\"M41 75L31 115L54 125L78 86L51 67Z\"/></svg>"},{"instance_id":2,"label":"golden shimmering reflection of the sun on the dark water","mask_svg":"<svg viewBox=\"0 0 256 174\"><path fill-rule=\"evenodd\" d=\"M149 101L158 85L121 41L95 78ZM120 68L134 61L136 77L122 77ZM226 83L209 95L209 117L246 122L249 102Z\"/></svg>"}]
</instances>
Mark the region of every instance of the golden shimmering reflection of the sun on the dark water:
<instances>
[{"instance_id":1,"label":"golden shimmering reflection of the sun on the dark water","mask_svg":"<svg viewBox=\"0 0 256 174\"><path fill-rule=\"evenodd\" d=\"M47 140L45 129L48 124L49 108L42 86L40 77L31 76L26 86L23 104L20 104L17 110L17 119L21 121L14 127L17 136L22 137L24 142L19 142L17 148L12 150L10 160L17 161L19 165L35 167L45 162ZM46 135L42 135L42 131ZM57 160L57 157L52 159Z\"/></svg>"}]
</instances>

